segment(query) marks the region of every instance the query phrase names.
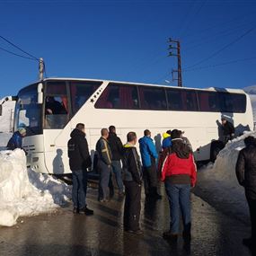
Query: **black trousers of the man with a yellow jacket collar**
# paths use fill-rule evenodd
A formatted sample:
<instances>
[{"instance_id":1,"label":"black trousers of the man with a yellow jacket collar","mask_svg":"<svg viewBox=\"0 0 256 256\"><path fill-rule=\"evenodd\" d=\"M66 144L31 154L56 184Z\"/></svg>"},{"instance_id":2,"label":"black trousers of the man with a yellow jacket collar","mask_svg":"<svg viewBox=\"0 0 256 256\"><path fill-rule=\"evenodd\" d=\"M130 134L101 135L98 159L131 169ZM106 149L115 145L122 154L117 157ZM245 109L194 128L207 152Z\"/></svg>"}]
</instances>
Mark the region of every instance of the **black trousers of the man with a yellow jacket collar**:
<instances>
[{"instance_id":1,"label":"black trousers of the man with a yellow jacket collar","mask_svg":"<svg viewBox=\"0 0 256 256\"><path fill-rule=\"evenodd\" d=\"M124 181L126 199L124 207L124 229L139 230L141 186L135 181Z\"/></svg>"}]
</instances>

